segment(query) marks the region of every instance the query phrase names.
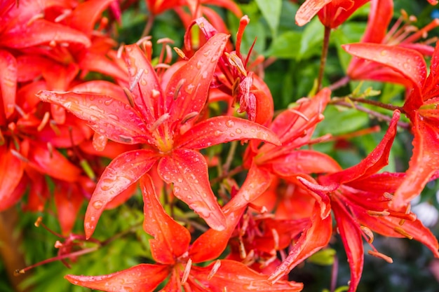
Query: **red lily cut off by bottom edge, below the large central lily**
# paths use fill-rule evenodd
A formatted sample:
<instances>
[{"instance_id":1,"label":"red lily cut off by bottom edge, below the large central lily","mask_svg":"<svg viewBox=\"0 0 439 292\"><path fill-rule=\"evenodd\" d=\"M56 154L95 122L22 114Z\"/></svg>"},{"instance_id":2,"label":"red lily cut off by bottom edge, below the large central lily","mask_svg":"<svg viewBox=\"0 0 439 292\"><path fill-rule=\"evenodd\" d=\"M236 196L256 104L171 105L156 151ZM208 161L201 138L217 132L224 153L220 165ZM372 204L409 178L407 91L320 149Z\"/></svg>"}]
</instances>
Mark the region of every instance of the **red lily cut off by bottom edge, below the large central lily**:
<instances>
[{"instance_id":1,"label":"red lily cut off by bottom edge, below the large central lily","mask_svg":"<svg viewBox=\"0 0 439 292\"><path fill-rule=\"evenodd\" d=\"M252 175L251 175L252 176ZM243 207L232 203L232 199L224 206L224 214L228 214L228 228L222 232L208 230L189 246L191 236L189 231L178 224L164 211L159 202L151 178L145 175L140 180L144 197L144 230L154 236L150 239L151 253L158 262L155 265L140 264L128 270L104 276L74 276L67 275L66 279L73 284L102 291L154 291L167 277L168 284L163 291L300 291L302 284L279 281L271 286L267 276L252 271L246 265L234 260L216 260L207 267L199 267L192 263L216 258L224 251L229 238L229 230L241 217ZM259 193L266 188L262 184L257 189L252 183L244 183L237 197L244 193ZM239 200L238 200L239 201ZM236 201L236 202L238 202ZM235 209L236 208L236 209ZM229 228L230 226L230 228ZM224 236L224 232L226 233ZM203 240L208 239L209 250L206 251ZM202 244L199 244L201 241ZM122 281L123 279L123 281Z\"/></svg>"}]
</instances>

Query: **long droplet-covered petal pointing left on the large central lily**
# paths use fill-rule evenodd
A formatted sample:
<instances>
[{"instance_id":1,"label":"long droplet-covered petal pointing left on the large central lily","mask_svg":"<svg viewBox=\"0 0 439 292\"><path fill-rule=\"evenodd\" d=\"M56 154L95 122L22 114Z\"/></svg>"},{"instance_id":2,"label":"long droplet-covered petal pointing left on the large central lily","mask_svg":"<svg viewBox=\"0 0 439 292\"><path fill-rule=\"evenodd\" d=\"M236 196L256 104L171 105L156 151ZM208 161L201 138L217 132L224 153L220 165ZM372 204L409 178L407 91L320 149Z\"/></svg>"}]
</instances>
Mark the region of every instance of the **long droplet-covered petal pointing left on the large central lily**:
<instances>
[{"instance_id":1,"label":"long droplet-covered petal pointing left on the large central lily","mask_svg":"<svg viewBox=\"0 0 439 292\"><path fill-rule=\"evenodd\" d=\"M64 106L75 116L86 120L96 132L124 144L149 143L149 131L140 114L129 104L106 95L43 90L43 102Z\"/></svg>"}]
</instances>

